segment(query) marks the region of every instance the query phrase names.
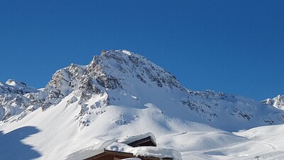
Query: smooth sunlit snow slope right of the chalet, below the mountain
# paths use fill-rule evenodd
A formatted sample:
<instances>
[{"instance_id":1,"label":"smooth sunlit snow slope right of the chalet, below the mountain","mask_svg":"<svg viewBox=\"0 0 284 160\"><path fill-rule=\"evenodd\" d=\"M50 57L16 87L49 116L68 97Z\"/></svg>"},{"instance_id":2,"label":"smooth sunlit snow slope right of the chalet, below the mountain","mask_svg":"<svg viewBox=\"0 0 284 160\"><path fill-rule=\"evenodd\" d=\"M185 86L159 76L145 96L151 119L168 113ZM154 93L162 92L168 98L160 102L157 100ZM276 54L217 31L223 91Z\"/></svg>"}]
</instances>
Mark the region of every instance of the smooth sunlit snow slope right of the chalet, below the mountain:
<instances>
[{"instance_id":1,"label":"smooth sunlit snow slope right of the chalet, below the mountain","mask_svg":"<svg viewBox=\"0 0 284 160\"><path fill-rule=\"evenodd\" d=\"M182 159L284 159L284 125L255 127L239 132L186 132L157 139L173 147Z\"/></svg>"}]
</instances>

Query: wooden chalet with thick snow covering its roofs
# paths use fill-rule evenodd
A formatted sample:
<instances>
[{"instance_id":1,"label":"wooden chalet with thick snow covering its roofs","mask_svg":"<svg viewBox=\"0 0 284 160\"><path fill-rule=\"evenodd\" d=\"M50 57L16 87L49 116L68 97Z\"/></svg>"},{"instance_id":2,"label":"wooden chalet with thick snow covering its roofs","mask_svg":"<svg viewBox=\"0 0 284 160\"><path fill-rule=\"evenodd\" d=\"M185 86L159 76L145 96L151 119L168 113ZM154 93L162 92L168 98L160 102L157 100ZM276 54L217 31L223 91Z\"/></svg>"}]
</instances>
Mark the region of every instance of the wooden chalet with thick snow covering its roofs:
<instances>
[{"instance_id":1,"label":"wooden chalet with thick snow covering its roofs","mask_svg":"<svg viewBox=\"0 0 284 160\"><path fill-rule=\"evenodd\" d=\"M122 144L128 147L130 152L114 151L109 149L107 146L103 146L102 149L87 150L82 149L77 151L66 160L121 160L128 158L138 158L141 160L173 160L173 155L168 154L169 151L180 155L178 151L173 149L158 148L155 143L155 137L151 133L138 134L131 137L124 137L116 139L116 144ZM145 150L143 150L145 149ZM117 150L117 149L116 149ZM151 150L155 152L159 150L160 153L151 153ZM145 151L150 151L145 154ZM163 151L167 154L161 154Z\"/></svg>"}]
</instances>

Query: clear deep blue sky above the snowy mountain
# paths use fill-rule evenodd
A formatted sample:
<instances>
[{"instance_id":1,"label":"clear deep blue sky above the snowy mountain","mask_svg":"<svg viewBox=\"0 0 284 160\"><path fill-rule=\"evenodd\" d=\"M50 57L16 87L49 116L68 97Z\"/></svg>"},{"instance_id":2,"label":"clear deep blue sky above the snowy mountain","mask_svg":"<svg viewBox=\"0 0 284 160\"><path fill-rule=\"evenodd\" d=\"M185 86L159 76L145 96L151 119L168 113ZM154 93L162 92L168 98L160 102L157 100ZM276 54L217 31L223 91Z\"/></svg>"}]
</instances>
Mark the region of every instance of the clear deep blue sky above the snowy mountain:
<instances>
[{"instance_id":1,"label":"clear deep blue sky above the snowy mountain","mask_svg":"<svg viewBox=\"0 0 284 160\"><path fill-rule=\"evenodd\" d=\"M284 1L0 0L0 81L44 87L102 49L140 53L191 90L284 94Z\"/></svg>"}]
</instances>

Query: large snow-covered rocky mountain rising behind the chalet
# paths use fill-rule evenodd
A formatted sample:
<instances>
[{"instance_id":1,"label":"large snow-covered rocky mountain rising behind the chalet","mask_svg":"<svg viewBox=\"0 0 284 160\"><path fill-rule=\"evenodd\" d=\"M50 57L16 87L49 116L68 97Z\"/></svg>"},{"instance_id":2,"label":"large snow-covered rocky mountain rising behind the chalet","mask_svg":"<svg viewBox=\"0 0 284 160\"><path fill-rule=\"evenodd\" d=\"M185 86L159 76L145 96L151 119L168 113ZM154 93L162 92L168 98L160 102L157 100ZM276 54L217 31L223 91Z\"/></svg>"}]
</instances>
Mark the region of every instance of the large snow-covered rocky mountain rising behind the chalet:
<instances>
[{"instance_id":1,"label":"large snow-covered rocky mountain rising behind the chalet","mask_svg":"<svg viewBox=\"0 0 284 160\"><path fill-rule=\"evenodd\" d=\"M188 90L143 56L109 50L88 65L58 70L40 90L15 80L1 83L0 119L4 133L27 134L21 139L29 146L28 159L64 159L104 140L143 132L152 132L158 145L178 149L187 159L193 144L199 151L246 142L230 132L283 124L284 112L238 95ZM192 142L197 135L204 139Z\"/></svg>"}]
</instances>

